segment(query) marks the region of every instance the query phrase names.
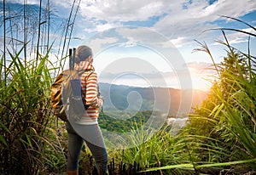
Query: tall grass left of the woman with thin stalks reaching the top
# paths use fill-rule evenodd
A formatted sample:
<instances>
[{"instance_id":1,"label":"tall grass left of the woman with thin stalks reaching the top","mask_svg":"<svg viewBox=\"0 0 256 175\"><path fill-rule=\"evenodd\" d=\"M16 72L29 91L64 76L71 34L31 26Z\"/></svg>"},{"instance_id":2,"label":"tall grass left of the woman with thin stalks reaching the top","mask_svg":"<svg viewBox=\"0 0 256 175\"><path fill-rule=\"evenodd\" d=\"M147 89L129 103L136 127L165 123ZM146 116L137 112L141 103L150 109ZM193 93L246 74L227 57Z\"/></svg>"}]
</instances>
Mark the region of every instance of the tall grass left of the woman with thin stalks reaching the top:
<instances>
[{"instance_id":1,"label":"tall grass left of the woman with thin stalks reaching the top","mask_svg":"<svg viewBox=\"0 0 256 175\"><path fill-rule=\"evenodd\" d=\"M66 20L55 16L49 0L47 7L43 7L42 1L39 6L23 3L11 6L12 3L3 1L1 15L0 174L63 172L67 137L64 129L55 125L49 93L51 74L56 76L67 59L77 11L74 14L72 9L73 15ZM78 9L79 3L73 1L73 6ZM64 23L67 27L62 27L63 33L66 31L69 38L54 47L61 50L62 56L51 63L49 52L54 50L49 46L53 42L49 41L49 35L58 35ZM64 37L63 33L60 37Z\"/></svg>"}]
</instances>

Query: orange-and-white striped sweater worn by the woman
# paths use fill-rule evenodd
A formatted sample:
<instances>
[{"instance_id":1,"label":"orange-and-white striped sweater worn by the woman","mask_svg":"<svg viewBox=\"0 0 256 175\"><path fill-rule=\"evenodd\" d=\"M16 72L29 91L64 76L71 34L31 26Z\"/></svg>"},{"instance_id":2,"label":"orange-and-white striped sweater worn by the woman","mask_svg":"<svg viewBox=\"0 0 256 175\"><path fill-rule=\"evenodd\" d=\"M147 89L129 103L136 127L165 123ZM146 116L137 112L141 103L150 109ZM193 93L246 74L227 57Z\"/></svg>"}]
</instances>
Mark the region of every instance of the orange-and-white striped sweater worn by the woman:
<instances>
[{"instance_id":1,"label":"orange-and-white striped sweater worn by the woman","mask_svg":"<svg viewBox=\"0 0 256 175\"><path fill-rule=\"evenodd\" d=\"M102 104L102 99L98 97L97 74L94 67L87 61L81 61L79 64L75 64L74 69L76 71L86 70L80 77L82 97L85 99L85 103L90 105L80 121L76 122L84 125L97 124L99 107Z\"/></svg>"}]
</instances>

